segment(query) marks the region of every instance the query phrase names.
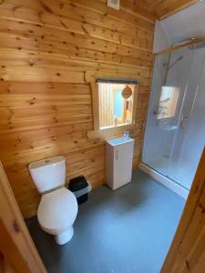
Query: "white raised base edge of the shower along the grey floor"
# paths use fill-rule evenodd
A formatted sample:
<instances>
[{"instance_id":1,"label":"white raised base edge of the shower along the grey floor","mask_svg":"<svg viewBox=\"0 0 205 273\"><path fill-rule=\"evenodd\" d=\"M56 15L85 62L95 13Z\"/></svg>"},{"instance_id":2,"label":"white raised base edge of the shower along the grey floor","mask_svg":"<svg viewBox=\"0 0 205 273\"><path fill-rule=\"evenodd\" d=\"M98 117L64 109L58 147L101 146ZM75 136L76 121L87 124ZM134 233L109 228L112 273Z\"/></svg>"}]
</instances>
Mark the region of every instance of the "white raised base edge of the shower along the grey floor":
<instances>
[{"instance_id":1,"label":"white raised base edge of the shower along the grey floor","mask_svg":"<svg viewBox=\"0 0 205 273\"><path fill-rule=\"evenodd\" d=\"M164 177L163 175L159 174L159 172L155 171L154 169L148 167L144 163L140 162L138 168L144 171L149 177L154 178L159 183L164 185L165 187L169 187L170 190L176 192L180 197L187 199L189 195L189 190L181 187L179 184L175 183L173 180L170 180L168 177Z\"/></svg>"}]
</instances>

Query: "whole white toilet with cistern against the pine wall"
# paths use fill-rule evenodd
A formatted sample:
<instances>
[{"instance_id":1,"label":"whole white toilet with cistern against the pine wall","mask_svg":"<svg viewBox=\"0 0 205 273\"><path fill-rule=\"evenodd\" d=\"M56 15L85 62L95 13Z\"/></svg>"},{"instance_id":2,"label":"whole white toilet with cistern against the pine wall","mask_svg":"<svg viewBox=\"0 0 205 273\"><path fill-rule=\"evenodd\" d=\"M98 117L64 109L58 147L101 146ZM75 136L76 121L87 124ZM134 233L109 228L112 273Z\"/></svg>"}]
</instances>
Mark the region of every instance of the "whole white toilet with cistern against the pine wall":
<instances>
[{"instance_id":1,"label":"whole white toilet with cistern against the pine wall","mask_svg":"<svg viewBox=\"0 0 205 273\"><path fill-rule=\"evenodd\" d=\"M73 223L77 217L77 198L65 187L66 158L51 157L28 166L30 175L40 194L37 219L47 233L56 238L59 245L73 237Z\"/></svg>"}]
</instances>

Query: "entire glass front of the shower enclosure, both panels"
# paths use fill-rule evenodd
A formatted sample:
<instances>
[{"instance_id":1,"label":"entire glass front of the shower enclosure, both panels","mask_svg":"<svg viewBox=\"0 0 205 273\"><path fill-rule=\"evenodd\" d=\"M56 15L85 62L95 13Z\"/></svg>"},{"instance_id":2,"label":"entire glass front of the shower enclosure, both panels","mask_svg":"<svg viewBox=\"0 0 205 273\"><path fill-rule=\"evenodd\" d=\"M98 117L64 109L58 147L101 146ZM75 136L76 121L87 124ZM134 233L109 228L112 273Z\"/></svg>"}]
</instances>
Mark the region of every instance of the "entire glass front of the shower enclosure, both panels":
<instances>
[{"instance_id":1,"label":"entire glass front of the shower enclosure, both panels","mask_svg":"<svg viewBox=\"0 0 205 273\"><path fill-rule=\"evenodd\" d=\"M205 44L155 58L142 163L190 190L205 145Z\"/></svg>"}]
</instances>

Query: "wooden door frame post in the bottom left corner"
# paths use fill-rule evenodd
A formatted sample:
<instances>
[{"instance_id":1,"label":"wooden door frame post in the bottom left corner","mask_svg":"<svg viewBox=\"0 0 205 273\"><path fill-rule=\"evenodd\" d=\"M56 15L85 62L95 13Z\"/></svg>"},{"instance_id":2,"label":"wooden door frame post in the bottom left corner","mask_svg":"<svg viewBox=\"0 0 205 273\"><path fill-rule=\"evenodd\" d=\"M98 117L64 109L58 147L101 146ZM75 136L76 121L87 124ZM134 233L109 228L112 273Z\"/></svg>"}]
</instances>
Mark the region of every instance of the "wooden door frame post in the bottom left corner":
<instances>
[{"instance_id":1,"label":"wooden door frame post in the bottom left corner","mask_svg":"<svg viewBox=\"0 0 205 273\"><path fill-rule=\"evenodd\" d=\"M46 273L0 161L0 254L16 273Z\"/></svg>"}]
</instances>

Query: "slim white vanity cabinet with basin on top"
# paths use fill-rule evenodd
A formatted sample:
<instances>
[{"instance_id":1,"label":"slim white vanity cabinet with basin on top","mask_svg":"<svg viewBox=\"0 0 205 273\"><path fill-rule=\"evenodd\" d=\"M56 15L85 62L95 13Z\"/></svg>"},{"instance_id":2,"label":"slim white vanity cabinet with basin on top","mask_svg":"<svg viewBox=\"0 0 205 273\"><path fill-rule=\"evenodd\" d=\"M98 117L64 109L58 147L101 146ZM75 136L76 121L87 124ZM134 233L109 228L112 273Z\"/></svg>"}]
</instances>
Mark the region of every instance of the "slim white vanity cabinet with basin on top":
<instances>
[{"instance_id":1,"label":"slim white vanity cabinet with basin on top","mask_svg":"<svg viewBox=\"0 0 205 273\"><path fill-rule=\"evenodd\" d=\"M106 179L113 190L131 181L134 139L118 137L106 143Z\"/></svg>"}]
</instances>

